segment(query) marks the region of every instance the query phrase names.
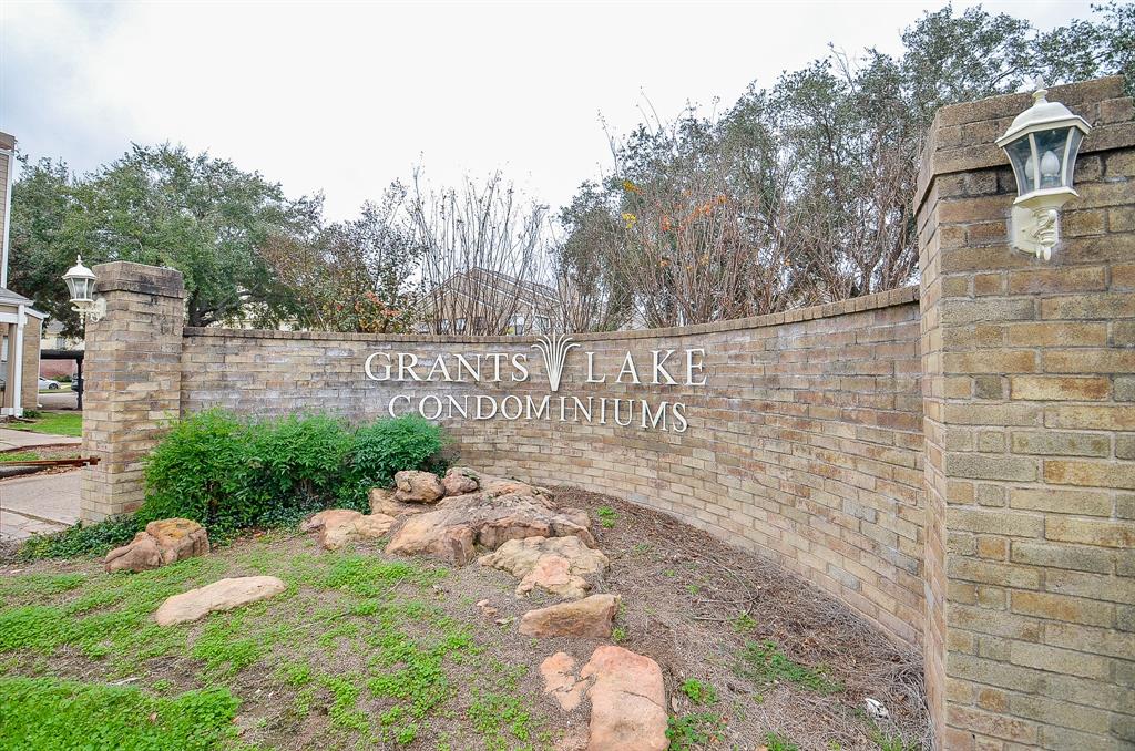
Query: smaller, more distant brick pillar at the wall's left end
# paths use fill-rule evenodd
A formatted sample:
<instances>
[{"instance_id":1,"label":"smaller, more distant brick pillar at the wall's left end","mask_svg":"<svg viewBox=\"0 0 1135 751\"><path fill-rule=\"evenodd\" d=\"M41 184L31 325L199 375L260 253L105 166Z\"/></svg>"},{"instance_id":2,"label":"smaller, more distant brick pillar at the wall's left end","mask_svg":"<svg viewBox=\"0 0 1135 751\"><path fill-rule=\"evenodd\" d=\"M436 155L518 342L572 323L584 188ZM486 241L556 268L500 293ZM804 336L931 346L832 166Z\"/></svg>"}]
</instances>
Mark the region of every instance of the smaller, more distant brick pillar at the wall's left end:
<instances>
[{"instance_id":1,"label":"smaller, more distant brick pillar at the wall's left end","mask_svg":"<svg viewBox=\"0 0 1135 751\"><path fill-rule=\"evenodd\" d=\"M84 522L142 503L142 459L180 407L185 317L180 271L125 261L93 271L107 315L86 324L83 454L101 461L84 470Z\"/></svg>"}]
</instances>

